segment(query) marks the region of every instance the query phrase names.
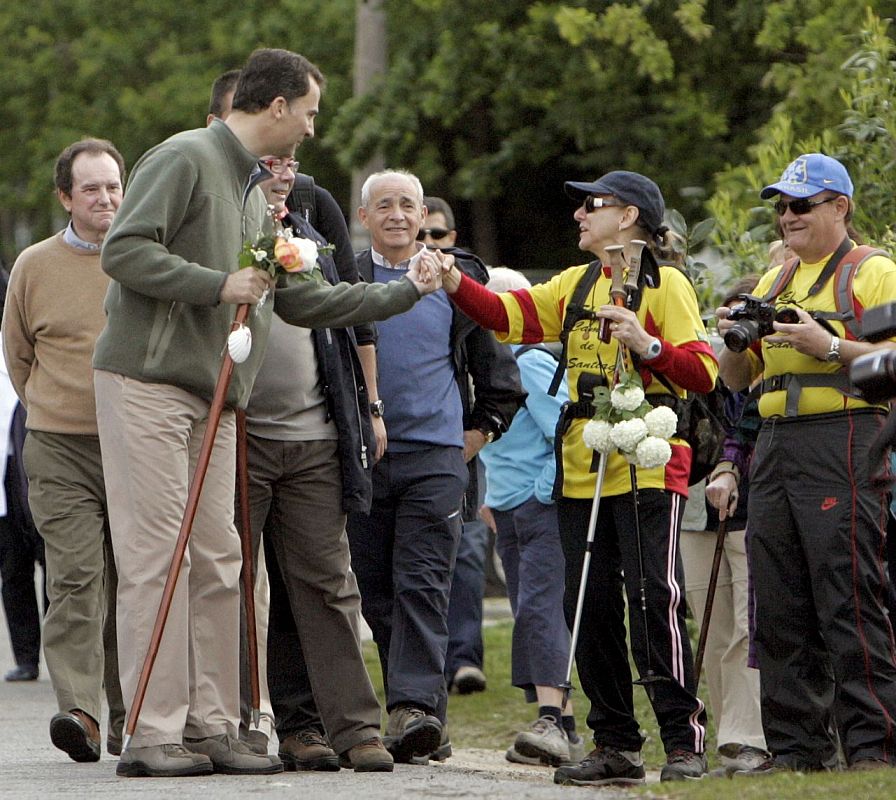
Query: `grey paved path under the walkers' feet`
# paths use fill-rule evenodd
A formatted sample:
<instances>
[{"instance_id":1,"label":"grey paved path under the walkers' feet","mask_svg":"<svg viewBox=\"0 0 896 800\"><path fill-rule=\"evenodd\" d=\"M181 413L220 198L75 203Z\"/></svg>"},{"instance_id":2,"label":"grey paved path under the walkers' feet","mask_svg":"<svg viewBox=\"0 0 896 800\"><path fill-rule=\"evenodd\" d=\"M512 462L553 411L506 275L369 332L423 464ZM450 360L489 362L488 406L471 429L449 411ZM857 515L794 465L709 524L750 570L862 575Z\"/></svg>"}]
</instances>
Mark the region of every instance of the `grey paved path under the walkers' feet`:
<instances>
[{"instance_id":1,"label":"grey paved path under the walkers' feet","mask_svg":"<svg viewBox=\"0 0 896 800\"><path fill-rule=\"evenodd\" d=\"M5 619L0 612L0 675L13 666ZM552 783L553 770L512 765L492 750L456 750L445 764L399 765L393 774L282 773L269 777L126 779L115 775L117 759L104 754L95 764L76 764L51 744L47 732L56 712L49 679L30 683L0 680L0 797L15 800L164 798L230 800L247 795L327 800L396 798L619 798L624 790L565 789ZM587 795L585 794L587 792Z\"/></svg>"}]
</instances>

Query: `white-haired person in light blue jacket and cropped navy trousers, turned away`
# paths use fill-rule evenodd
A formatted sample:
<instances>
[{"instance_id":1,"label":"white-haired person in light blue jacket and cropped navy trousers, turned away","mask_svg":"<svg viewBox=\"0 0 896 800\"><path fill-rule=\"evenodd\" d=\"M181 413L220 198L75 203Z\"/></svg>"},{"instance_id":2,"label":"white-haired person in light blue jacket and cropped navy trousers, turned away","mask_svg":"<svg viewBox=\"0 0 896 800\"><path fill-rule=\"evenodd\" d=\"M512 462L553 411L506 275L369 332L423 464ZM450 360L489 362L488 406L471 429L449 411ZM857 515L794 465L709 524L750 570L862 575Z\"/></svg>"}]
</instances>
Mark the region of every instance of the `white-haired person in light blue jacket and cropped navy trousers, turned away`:
<instances>
[{"instance_id":1,"label":"white-haired person in light blue jacket and cropped navy trousers, turned away","mask_svg":"<svg viewBox=\"0 0 896 800\"><path fill-rule=\"evenodd\" d=\"M530 286L515 270L498 267L489 275L493 291ZM551 499L554 429L568 394L565 378L555 397L548 394L557 359L547 348L509 347L528 397L501 439L480 451L488 487L481 513L497 535L513 610L511 680L527 702L538 703L538 719L517 735L507 759L559 766L584 756L572 704L563 708L569 628L563 616L563 550Z\"/></svg>"}]
</instances>

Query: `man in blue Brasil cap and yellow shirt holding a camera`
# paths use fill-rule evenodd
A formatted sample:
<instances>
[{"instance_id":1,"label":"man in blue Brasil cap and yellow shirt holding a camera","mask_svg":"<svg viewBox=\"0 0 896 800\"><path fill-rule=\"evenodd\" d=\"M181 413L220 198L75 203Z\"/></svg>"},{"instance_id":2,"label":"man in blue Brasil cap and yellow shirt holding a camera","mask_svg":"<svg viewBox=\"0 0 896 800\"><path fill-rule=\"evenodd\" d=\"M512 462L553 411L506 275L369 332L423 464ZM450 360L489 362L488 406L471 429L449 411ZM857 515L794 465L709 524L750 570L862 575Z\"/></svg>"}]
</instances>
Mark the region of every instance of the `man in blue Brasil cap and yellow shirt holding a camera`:
<instances>
[{"instance_id":1,"label":"man in blue Brasil cap and yellow shirt holding a camera","mask_svg":"<svg viewBox=\"0 0 896 800\"><path fill-rule=\"evenodd\" d=\"M754 293L794 309L798 322L775 322L773 334L744 352L726 346L719 358L734 390L764 378L748 550L762 723L773 757L752 772L831 769L834 724L850 769L892 766L896 662L884 607L886 498L870 485L868 458L886 407L852 394L844 368L896 341L861 341L838 313L837 266L857 246L849 236L853 184L843 165L820 153L802 155L760 196L778 198L784 240L798 262L787 281L780 276L790 262L770 270ZM896 264L871 255L854 272L851 294L856 316L891 302ZM716 314L724 335L735 323L727 308Z\"/></svg>"}]
</instances>

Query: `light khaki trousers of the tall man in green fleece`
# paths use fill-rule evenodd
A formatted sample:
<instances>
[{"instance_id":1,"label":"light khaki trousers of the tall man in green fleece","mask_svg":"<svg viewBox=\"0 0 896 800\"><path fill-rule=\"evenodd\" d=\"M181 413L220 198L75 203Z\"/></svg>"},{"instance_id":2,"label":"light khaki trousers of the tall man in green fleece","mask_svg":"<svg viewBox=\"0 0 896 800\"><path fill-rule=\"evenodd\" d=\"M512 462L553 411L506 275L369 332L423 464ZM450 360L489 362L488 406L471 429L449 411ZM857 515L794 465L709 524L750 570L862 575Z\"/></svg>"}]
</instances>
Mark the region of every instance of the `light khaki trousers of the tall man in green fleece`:
<instances>
[{"instance_id":1,"label":"light khaki trousers of the tall man in green fleece","mask_svg":"<svg viewBox=\"0 0 896 800\"><path fill-rule=\"evenodd\" d=\"M164 384L94 373L118 566L121 688L130 708L186 505L208 403ZM240 543L236 427L221 417L192 535L132 745L237 735Z\"/></svg>"}]
</instances>

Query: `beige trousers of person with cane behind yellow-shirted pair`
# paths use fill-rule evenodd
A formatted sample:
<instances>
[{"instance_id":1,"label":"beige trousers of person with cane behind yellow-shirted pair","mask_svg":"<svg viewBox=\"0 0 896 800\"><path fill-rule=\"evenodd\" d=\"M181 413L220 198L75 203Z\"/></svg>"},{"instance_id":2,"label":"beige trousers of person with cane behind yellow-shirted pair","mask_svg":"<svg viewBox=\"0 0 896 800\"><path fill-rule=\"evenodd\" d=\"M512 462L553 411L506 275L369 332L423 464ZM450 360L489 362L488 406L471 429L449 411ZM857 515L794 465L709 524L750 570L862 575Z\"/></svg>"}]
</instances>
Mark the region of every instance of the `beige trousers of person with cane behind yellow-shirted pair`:
<instances>
[{"instance_id":1,"label":"beige trousers of person with cane behind yellow-shirted pair","mask_svg":"<svg viewBox=\"0 0 896 800\"><path fill-rule=\"evenodd\" d=\"M688 606L699 625L716 547L714 531L682 531ZM765 749L759 710L759 670L747 666L747 553L744 531L729 531L719 568L712 618L703 657L717 746L744 744Z\"/></svg>"}]
</instances>

